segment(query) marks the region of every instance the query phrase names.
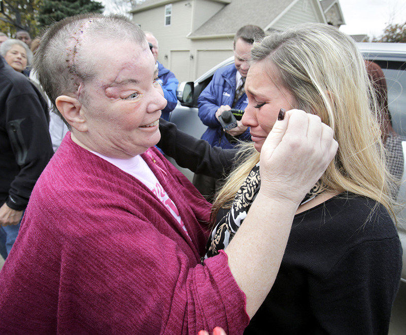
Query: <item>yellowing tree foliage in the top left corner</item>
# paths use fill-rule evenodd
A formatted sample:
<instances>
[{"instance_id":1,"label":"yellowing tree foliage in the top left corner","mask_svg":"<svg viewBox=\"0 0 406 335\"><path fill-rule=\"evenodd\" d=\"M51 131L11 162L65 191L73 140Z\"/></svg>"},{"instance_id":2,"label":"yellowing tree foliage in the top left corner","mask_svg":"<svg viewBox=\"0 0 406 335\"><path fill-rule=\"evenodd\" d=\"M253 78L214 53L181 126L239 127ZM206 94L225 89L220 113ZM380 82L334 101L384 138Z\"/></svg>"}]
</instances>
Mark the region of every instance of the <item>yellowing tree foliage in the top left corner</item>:
<instances>
[{"instance_id":1,"label":"yellowing tree foliage in the top left corner","mask_svg":"<svg viewBox=\"0 0 406 335\"><path fill-rule=\"evenodd\" d=\"M41 0L1 0L0 31L14 36L17 30L38 32L36 17Z\"/></svg>"}]
</instances>

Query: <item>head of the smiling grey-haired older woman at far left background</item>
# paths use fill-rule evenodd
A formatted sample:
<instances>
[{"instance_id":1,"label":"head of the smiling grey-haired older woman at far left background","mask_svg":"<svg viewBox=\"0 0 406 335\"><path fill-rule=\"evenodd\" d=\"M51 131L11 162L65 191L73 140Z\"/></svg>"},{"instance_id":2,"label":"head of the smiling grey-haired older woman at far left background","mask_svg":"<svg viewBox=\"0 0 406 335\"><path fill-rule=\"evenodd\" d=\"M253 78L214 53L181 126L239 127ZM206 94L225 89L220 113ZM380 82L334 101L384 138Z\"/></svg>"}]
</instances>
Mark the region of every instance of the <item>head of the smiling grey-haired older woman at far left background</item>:
<instances>
[{"instance_id":1,"label":"head of the smiling grey-haired older woman at far left background","mask_svg":"<svg viewBox=\"0 0 406 335\"><path fill-rule=\"evenodd\" d=\"M23 72L32 61L32 52L24 42L8 39L0 46L0 55L18 72Z\"/></svg>"}]
</instances>

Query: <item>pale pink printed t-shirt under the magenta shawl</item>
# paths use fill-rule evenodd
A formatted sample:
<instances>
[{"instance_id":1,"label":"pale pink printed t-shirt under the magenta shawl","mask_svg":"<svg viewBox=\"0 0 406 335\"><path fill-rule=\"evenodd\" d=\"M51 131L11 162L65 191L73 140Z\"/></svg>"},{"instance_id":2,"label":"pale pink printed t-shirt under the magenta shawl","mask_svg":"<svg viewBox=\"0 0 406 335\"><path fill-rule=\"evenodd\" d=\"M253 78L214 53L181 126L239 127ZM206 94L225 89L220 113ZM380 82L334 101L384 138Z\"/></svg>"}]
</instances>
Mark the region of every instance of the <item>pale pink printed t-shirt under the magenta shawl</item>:
<instances>
[{"instance_id":1,"label":"pale pink printed t-shirt under the magenta shawl","mask_svg":"<svg viewBox=\"0 0 406 335\"><path fill-rule=\"evenodd\" d=\"M181 225L182 229L186 232L190 238L186 227L179 215L178 208L172 199L167 195L166 191L155 177L154 173L149 168L148 164L144 161L141 155L131 157L128 159L111 158L94 151L91 151L94 155L108 161L109 163L117 166L120 170L132 175L134 178L140 180L151 192L163 203L166 209L176 218Z\"/></svg>"}]
</instances>

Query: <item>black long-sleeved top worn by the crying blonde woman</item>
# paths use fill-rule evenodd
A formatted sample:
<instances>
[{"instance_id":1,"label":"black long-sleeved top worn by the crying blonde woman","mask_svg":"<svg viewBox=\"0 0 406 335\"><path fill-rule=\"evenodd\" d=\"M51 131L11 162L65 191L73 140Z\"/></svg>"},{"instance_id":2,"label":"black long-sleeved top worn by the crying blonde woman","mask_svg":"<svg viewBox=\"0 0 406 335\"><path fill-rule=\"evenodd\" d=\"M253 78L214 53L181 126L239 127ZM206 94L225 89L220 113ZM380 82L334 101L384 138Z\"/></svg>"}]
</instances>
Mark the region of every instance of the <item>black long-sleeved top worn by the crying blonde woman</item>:
<instances>
[{"instance_id":1,"label":"black long-sleeved top worn by the crying blonde woman","mask_svg":"<svg viewBox=\"0 0 406 335\"><path fill-rule=\"evenodd\" d=\"M157 145L193 172L220 178L235 163L235 149L211 147L165 121L159 129ZM387 334L401 268L388 211L342 193L295 215L278 276L244 334Z\"/></svg>"}]
</instances>

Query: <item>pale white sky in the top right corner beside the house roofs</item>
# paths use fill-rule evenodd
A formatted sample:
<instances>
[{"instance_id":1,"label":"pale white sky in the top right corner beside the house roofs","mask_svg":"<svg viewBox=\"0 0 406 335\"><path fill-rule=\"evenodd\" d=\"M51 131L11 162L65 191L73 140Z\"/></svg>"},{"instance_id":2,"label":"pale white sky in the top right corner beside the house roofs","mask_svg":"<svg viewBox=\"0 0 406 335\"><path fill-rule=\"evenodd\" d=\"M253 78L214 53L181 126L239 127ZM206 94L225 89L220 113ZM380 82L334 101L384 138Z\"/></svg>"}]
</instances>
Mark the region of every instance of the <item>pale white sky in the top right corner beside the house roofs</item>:
<instances>
[{"instance_id":1,"label":"pale white sky in the top right corner beside the house roofs","mask_svg":"<svg viewBox=\"0 0 406 335\"><path fill-rule=\"evenodd\" d=\"M345 25L340 30L347 34L380 36L387 23L406 21L405 0L340 0Z\"/></svg>"}]
</instances>

